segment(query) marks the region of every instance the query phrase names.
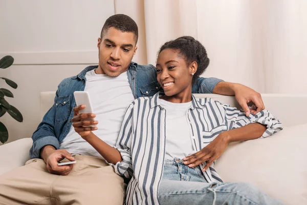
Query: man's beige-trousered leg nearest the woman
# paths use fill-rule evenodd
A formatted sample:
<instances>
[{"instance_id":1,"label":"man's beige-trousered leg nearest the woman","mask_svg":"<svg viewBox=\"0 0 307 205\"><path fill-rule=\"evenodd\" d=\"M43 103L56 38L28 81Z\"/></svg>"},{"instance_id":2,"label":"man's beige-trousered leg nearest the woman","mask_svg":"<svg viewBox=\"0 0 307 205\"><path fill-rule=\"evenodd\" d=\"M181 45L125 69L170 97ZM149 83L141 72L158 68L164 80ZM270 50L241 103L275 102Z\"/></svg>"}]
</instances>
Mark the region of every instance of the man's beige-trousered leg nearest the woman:
<instances>
[{"instance_id":1,"label":"man's beige-trousered leg nearest the woman","mask_svg":"<svg viewBox=\"0 0 307 205\"><path fill-rule=\"evenodd\" d=\"M123 204L125 185L103 159L76 155L72 172L52 186L59 204Z\"/></svg>"}]
</instances>

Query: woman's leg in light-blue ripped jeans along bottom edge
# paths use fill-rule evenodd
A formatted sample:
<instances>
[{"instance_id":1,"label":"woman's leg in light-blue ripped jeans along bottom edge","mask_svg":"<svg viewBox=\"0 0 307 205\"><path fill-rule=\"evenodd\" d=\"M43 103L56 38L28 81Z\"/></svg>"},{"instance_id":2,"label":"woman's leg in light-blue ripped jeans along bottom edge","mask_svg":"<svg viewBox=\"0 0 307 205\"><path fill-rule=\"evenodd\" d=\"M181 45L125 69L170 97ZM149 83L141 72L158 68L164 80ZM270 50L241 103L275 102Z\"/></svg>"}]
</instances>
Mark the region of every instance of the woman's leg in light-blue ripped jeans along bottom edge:
<instances>
[{"instance_id":1,"label":"woman's leg in light-blue ripped jeans along bottom edge","mask_svg":"<svg viewBox=\"0 0 307 205\"><path fill-rule=\"evenodd\" d=\"M247 183L203 183L162 180L159 202L163 204L282 204Z\"/></svg>"}]
</instances>

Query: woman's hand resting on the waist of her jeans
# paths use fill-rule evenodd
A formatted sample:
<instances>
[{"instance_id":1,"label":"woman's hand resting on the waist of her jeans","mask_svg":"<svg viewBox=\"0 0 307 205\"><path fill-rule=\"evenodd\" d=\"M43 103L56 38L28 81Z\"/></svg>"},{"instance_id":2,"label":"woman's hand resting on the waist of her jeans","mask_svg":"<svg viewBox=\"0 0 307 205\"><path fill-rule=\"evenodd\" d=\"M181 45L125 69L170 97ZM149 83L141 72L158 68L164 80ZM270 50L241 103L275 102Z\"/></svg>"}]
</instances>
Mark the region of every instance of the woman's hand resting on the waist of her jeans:
<instances>
[{"instance_id":1,"label":"woman's hand resting on the waist of her jeans","mask_svg":"<svg viewBox=\"0 0 307 205\"><path fill-rule=\"evenodd\" d=\"M202 170L204 172L209 168L213 161L223 154L228 144L227 131L222 132L201 151L183 158L183 160L185 160L184 164L189 167L196 167L201 163L206 162L206 166Z\"/></svg>"}]
</instances>

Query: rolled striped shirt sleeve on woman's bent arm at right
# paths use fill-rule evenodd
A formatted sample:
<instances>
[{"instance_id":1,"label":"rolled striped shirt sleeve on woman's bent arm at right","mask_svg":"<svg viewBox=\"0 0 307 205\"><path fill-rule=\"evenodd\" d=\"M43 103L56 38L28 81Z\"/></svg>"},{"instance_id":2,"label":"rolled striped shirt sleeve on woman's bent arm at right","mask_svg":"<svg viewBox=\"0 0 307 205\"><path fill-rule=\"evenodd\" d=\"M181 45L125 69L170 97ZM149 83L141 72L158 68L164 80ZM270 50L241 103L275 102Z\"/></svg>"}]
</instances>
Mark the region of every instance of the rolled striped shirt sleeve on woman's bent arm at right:
<instances>
[{"instance_id":1,"label":"rolled striped shirt sleeve on woman's bent arm at right","mask_svg":"<svg viewBox=\"0 0 307 205\"><path fill-rule=\"evenodd\" d=\"M267 127L267 130L264 132L264 134L262 134L260 138L271 136L272 134L282 130L282 124L268 110L262 110L255 115L250 114L247 117L245 112L242 110L238 110L235 107L230 107L229 105L221 105L225 110L227 130L240 128L254 122L258 122L259 124Z\"/></svg>"}]
</instances>

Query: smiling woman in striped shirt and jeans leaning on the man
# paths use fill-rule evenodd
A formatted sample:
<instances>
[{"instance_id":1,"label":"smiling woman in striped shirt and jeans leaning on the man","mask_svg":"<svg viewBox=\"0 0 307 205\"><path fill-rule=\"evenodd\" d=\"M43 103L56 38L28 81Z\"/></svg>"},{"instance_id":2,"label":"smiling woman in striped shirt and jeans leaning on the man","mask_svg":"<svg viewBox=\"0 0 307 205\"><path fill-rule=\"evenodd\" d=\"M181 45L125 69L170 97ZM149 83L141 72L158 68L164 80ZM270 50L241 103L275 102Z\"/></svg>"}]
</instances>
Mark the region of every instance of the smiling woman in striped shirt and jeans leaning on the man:
<instances>
[{"instance_id":1,"label":"smiling woman in striped shirt and jeans leaning on the man","mask_svg":"<svg viewBox=\"0 0 307 205\"><path fill-rule=\"evenodd\" d=\"M280 203L245 183L223 183L214 170L230 142L268 137L282 126L267 110L246 117L213 99L195 99L192 84L208 65L205 48L193 37L161 47L156 68L164 93L133 101L118 151L100 152L130 179L127 204Z\"/></svg>"}]
</instances>

